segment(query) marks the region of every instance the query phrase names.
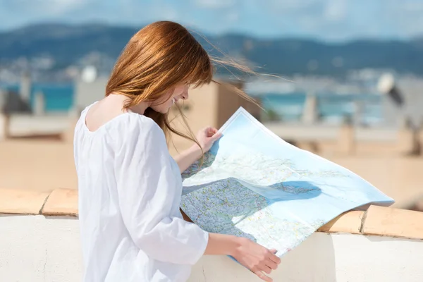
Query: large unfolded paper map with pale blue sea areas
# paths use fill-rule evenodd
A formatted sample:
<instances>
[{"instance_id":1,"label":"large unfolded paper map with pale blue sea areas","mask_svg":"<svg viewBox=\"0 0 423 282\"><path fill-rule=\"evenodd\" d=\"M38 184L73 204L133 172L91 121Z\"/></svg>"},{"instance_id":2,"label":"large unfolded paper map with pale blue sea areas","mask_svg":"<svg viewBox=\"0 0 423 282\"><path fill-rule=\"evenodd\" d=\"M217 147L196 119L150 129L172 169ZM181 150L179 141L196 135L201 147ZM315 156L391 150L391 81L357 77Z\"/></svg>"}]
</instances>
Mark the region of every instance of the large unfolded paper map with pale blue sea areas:
<instances>
[{"instance_id":1,"label":"large unfolded paper map with pale blue sea areas","mask_svg":"<svg viewBox=\"0 0 423 282\"><path fill-rule=\"evenodd\" d=\"M283 141L243 108L220 131L203 163L183 173L181 208L205 231L250 238L281 257L343 212L393 203L348 169Z\"/></svg>"}]
</instances>

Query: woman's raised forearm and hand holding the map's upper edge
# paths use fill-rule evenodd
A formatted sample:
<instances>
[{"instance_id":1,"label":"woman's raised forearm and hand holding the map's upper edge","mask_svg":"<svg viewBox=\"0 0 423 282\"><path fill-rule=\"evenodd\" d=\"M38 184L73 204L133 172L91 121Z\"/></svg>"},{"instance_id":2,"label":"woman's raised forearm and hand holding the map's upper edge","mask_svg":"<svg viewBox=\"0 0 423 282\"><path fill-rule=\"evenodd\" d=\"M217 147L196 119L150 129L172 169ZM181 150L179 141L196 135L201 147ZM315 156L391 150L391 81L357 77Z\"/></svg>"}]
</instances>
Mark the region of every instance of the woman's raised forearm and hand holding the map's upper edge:
<instances>
[{"instance_id":1,"label":"woman's raised forearm and hand holding the map's upper edge","mask_svg":"<svg viewBox=\"0 0 423 282\"><path fill-rule=\"evenodd\" d=\"M180 173L186 171L195 161L202 157L202 153L209 151L214 142L221 137L216 128L204 128L197 133L197 140L201 147L197 144L192 145L181 154L175 157L175 161L179 166Z\"/></svg>"}]
</instances>

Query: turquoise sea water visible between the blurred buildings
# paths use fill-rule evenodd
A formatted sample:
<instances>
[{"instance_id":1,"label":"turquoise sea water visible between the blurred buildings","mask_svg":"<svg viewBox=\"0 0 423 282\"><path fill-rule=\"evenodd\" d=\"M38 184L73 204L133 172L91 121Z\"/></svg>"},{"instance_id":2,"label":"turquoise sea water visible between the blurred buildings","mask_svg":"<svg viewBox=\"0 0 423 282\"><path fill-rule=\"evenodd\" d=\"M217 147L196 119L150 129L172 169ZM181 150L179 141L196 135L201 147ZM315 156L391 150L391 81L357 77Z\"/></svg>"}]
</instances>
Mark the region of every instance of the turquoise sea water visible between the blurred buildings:
<instances>
[{"instance_id":1,"label":"turquoise sea water visible between the blurred buildings","mask_svg":"<svg viewBox=\"0 0 423 282\"><path fill-rule=\"evenodd\" d=\"M18 85L2 86L8 90L18 92ZM73 106L75 86L73 84L42 84L35 83L31 90L31 103L35 93L43 92L47 112L66 112ZM305 106L307 94L305 92L290 92L284 94L265 93L257 96L266 110L276 113L278 120L299 121ZM357 102L362 104L362 121L378 123L381 121L381 95L379 94L337 94L317 93L317 109L322 121L339 123L345 116L353 116Z\"/></svg>"}]
</instances>

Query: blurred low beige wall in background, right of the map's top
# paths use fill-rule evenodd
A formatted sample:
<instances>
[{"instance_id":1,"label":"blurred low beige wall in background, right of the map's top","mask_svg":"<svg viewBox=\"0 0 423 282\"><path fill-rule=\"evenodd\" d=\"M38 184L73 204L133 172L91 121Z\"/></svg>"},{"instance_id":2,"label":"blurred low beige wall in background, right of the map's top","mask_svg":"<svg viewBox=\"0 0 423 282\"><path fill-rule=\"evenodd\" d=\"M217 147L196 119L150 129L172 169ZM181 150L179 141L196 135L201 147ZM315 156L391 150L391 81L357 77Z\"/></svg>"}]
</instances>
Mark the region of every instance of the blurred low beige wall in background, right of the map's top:
<instances>
[{"instance_id":1,"label":"blurred low beige wall in background, right of the map's top","mask_svg":"<svg viewBox=\"0 0 423 282\"><path fill-rule=\"evenodd\" d=\"M353 128L274 122L264 125L283 140L326 157L398 156L411 152L414 145L412 131L405 128ZM423 140L422 136L419 137L420 142Z\"/></svg>"}]
</instances>

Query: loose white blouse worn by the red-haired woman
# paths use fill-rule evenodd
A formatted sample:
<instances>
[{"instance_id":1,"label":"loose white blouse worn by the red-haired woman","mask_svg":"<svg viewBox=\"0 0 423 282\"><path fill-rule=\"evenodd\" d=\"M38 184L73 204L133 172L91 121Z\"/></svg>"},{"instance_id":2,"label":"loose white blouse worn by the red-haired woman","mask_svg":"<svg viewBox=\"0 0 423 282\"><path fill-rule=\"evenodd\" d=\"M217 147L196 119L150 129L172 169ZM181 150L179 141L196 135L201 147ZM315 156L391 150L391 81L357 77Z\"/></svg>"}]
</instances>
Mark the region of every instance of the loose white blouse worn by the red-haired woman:
<instances>
[{"instance_id":1,"label":"loose white blouse worn by the red-haired woman","mask_svg":"<svg viewBox=\"0 0 423 282\"><path fill-rule=\"evenodd\" d=\"M209 235L183 220L182 180L152 119L117 116L75 127L83 281L187 281Z\"/></svg>"}]
</instances>

